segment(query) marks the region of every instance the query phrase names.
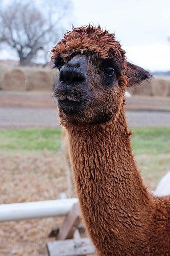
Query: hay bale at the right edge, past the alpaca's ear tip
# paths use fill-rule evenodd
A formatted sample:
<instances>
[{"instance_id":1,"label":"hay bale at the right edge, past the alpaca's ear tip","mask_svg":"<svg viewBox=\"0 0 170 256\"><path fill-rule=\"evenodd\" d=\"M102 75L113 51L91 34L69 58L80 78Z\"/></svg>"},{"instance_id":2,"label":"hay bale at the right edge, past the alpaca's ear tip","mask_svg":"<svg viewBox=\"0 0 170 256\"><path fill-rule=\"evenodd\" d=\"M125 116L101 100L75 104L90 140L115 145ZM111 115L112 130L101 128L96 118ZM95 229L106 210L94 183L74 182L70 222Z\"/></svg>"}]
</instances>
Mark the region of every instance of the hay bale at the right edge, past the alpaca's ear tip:
<instances>
[{"instance_id":1,"label":"hay bale at the right edge, past the alpaca's ear tip","mask_svg":"<svg viewBox=\"0 0 170 256\"><path fill-rule=\"evenodd\" d=\"M154 86L152 88L154 96L168 96L169 81L163 79L155 79Z\"/></svg>"}]
</instances>

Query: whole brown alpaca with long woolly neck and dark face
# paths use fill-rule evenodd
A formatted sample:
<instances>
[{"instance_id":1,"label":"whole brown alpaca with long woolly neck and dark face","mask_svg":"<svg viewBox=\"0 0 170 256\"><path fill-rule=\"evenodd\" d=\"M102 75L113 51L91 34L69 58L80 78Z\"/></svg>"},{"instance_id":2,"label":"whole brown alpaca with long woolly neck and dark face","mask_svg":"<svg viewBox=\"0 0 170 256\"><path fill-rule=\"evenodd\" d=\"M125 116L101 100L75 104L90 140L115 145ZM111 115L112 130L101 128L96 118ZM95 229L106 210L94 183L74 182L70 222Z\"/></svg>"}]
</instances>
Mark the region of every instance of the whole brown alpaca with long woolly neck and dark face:
<instances>
[{"instance_id":1,"label":"whole brown alpaca with long woolly neck and dark face","mask_svg":"<svg viewBox=\"0 0 170 256\"><path fill-rule=\"evenodd\" d=\"M99 255L170 255L170 198L136 167L124 92L150 74L127 62L114 34L73 28L52 50L59 117L69 134L77 195Z\"/></svg>"}]
</instances>

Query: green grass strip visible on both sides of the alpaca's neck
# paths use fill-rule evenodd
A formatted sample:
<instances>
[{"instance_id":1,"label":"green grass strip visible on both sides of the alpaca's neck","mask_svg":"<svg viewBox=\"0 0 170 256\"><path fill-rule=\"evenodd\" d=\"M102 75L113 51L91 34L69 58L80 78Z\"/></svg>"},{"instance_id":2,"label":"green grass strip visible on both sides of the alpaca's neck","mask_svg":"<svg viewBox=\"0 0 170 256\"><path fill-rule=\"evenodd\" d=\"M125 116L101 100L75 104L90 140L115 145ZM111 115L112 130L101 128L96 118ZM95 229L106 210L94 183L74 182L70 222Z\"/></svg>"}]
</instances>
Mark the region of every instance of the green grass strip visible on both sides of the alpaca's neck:
<instances>
[{"instance_id":1,"label":"green grass strip visible on both sides of the alpaca's neck","mask_svg":"<svg viewBox=\"0 0 170 256\"><path fill-rule=\"evenodd\" d=\"M170 154L170 127L131 127L133 152L155 156ZM1 129L0 153L28 153L47 150L57 153L61 128Z\"/></svg>"}]
</instances>

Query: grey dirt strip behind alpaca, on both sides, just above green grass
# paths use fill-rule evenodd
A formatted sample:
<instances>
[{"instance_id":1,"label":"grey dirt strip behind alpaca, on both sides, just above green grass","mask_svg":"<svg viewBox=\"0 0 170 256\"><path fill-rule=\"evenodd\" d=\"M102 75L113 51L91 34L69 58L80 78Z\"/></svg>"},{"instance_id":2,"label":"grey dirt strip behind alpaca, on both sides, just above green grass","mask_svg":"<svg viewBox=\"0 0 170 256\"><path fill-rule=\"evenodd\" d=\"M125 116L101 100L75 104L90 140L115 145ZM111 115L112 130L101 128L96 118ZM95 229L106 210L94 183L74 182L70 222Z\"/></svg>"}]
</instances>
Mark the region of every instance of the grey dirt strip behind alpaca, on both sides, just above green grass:
<instances>
[{"instance_id":1,"label":"grey dirt strip behind alpaca, on both sides, just above green grass","mask_svg":"<svg viewBox=\"0 0 170 256\"><path fill-rule=\"evenodd\" d=\"M130 126L170 126L170 111L126 111ZM57 109L0 108L0 127L56 127Z\"/></svg>"}]
</instances>

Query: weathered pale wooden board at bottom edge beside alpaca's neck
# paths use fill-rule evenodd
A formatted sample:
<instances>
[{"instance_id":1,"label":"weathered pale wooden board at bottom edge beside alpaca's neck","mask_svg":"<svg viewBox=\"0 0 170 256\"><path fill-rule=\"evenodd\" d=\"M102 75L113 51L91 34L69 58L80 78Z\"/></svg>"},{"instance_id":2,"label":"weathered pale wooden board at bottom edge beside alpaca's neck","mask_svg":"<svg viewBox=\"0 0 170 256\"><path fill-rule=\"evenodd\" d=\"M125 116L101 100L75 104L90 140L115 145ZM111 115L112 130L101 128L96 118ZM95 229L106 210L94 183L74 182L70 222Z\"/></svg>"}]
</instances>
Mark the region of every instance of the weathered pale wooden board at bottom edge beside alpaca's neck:
<instances>
[{"instance_id":1,"label":"weathered pale wooden board at bottom edge beside alpaca's neck","mask_svg":"<svg viewBox=\"0 0 170 256\"><path fill-rule=\"evenodd\" d=\"M94 247L89 238L67 239L47 243L49 256L71 256L94 254Z\"/></svg>"}]
</instances>

